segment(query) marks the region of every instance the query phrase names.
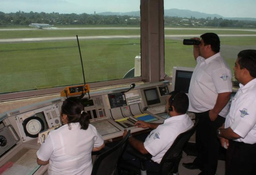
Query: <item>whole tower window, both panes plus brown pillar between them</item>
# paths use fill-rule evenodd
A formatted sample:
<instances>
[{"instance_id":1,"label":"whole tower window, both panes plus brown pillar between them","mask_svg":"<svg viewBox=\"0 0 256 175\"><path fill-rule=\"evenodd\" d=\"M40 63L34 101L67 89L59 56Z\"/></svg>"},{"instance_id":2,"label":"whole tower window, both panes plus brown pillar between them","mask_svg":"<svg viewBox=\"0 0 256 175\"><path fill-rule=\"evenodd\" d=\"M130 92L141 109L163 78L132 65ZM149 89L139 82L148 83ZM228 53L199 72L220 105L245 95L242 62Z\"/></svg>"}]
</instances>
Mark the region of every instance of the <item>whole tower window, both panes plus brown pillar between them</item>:
<instances>
[{"instance_id":1,"label":"whole tower window, both panes plus brown pillar between them","mask_svg":"<svg viewBox=\"0 0 256 175\"><path fill-rule=\"evenodd\" d=\"M255 49L252 0L26 2L1 4L0 99L10 92L15 93L8 99L83 84L76 35L85 80L92 88L162 81L164 75L171 80L173 66L196 65L193 47L183 45L183 39L206 32L219 35L221 55L231 69L239 51ZM28 26L32 23L51 26ZM140 70L136 66L141 72L135 72Z\"/></svg>"}]
</instances>

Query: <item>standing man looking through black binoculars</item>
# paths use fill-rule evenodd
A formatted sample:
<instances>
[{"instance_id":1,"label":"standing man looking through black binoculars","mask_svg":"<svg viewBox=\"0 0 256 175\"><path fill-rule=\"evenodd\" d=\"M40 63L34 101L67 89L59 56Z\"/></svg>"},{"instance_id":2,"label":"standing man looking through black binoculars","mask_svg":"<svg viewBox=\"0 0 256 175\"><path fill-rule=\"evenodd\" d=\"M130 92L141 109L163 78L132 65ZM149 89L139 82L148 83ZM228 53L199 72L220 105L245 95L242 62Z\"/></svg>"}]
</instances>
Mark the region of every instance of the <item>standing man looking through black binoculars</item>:
<instances>
[{"instance_id":1,"label":"standing man looking through black binoculars","mask_svg":"<svg viewBox=\"0 0 256 175\"><path fill-rule=\"evenodd\" d=\"M215 175L220 143L216 130L224 123L228 100L232 92L231 71L220 54L220 39L215 33L205 33L199 45L193 45L197 65L189 87L189 111L195 112L198 156L193 163L183 163L189 169L200 169L199 175Z\"/></svg>"}]
</instances>

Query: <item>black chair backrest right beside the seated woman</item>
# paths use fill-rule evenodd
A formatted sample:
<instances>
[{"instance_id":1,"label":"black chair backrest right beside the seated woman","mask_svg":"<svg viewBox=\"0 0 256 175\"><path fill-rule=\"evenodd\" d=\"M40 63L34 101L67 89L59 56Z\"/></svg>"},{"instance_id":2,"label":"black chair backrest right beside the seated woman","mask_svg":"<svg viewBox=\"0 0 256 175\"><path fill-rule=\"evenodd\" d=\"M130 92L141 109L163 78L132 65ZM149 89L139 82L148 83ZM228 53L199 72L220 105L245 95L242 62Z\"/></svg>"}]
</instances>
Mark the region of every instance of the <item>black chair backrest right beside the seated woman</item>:
<instances>
[{"instance_id":1,"label":"black chair backrest right beside the seated woman","mask_svg":"<svg viewBox=\"0 0 256 175\"><path fill-rule=\"evenodd\" d=\"M114 175L116 174L116 167L121 158L130 136L130 130L118 144L114 147L98 155L92 168L91 175Z\"/></svg>"}]
</instances>

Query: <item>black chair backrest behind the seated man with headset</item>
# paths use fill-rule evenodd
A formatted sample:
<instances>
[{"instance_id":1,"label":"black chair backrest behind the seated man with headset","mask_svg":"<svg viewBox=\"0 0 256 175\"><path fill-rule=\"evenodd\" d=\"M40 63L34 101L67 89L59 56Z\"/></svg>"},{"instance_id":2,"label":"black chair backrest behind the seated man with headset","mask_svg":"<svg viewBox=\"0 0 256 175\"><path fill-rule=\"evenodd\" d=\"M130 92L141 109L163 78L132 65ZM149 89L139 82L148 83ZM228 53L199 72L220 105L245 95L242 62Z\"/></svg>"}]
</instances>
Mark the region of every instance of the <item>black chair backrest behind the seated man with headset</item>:
<instances>
[{"instance_id":1,"label":"black chair backrest behind the seated man with headset","mask_svg":"<svg viewBox=\"0 0 256 175\"><path fill-rule=\"evenodd\" d=\"M176 137L172 146L168 149L168 151L165 153L165 155L161 160L159 174L168 175L170 172L173 172L174 168L176 168L176 172L178 172L179 161L182 158L182 149L185 146L185 144L188 142L189 138L196 131L197 123L198 123L198 120L196 120L192 128L185 131L184 133L180 133Z\"/></svg>"}]
</instances>

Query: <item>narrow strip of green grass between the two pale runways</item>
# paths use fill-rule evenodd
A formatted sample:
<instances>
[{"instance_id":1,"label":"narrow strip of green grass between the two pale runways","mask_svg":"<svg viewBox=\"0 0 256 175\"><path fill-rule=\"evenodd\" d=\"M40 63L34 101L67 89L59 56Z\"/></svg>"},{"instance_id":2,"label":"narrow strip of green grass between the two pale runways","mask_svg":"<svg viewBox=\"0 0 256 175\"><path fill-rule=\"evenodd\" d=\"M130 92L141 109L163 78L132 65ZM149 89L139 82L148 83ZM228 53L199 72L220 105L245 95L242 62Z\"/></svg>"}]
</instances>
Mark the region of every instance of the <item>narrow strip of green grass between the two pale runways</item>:
<instances>
[{"instance_id":1,"label":"narrow strip of green grass between the two pale runways","mask_svg":"<svg viewBox=\"0 0 256 175\"><path fill-rule=\"evenodd\" d=\"M108 26L109 27L109 26ZM194 35L200 36L206 32L214 32L217 35L255 35L256 31L239 31L239 30L187 30L173 29L165 30L165 35ZM77 29L77 30L55 30L32 28L24 31L1 31L0 39L6 38L39 38L39 37L70 37L70 36L98 36L98 35L140 35L140 29Z\"/></svg>"}]
</instances>

